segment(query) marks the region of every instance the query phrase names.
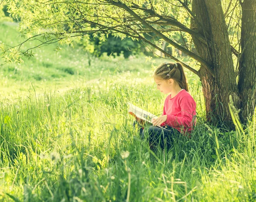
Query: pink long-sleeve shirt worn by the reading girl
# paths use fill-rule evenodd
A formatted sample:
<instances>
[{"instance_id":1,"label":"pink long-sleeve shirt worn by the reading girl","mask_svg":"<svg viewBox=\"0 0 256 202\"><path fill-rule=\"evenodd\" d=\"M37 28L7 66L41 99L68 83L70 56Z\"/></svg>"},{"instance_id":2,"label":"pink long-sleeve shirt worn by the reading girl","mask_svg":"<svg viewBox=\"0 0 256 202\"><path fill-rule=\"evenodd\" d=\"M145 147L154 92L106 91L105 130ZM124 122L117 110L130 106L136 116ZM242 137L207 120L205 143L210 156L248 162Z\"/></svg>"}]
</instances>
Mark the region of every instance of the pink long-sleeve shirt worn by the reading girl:
<instances>
[{"instance_id":1,"label":"pink long-sleeve shirt worn by the reading girl","mask_svg":"<svg viewBox=\"0 0 256 202\"><path fill-rule=\"evenodd\" d=\"M167 120L161 126L169 125L180 131L181 134L185 134L186 131L191 133L196 124L195 109L195 100L185 89L172 98L169 94L164 101L162 114L167 114Z\"/></svg>"}]
</instances>

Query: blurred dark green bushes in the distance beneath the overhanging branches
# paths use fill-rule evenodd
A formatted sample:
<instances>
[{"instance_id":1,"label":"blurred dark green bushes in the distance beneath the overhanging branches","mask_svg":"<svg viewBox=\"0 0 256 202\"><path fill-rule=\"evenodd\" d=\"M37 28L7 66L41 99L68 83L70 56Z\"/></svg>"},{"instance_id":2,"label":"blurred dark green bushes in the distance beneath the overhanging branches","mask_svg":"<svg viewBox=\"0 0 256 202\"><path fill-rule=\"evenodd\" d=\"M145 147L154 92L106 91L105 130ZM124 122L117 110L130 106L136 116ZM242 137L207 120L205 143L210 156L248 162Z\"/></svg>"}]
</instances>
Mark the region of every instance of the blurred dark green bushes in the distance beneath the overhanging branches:
<instances>
[{"instance_id":1,"label":"blurred dark green bushes in the distance beneath the overhanging branches","mask_svg":"<svg viewBox=\"0 0 256 202\"><path fill-rule=\"evenodd\" d=\"M8 12L8 8L6 5L0 5L0 22L19 22L19 18L11 18L10 13ZM67 26L68 29L68 26ZM157 37L154 33L150 35L145 33L143 36L150 40L154 37L154 43L159 45L160 38ZM187 43L186 38L183 38L180 34L175 34L173 37L177 42L182 43L183 40ZM81 40L77 42L77 44L84 49L88 54L95 57L101 57L103 54L113 57L121 56L124 58L128 58L132 55L141 55L141 56L150 56L154 57L156 52L159 56L164 55L162 53L158 53L154 48L149 47L147 44L143 43L143 41L132 40L130 37L125 37L123 39L119 37L113 36L113 34L106 34L106 37L95 37L93 34L84 35ZM175 50L175 48L168 46L166 43L160 44L163 49L170 54L177 56L177 54L185 56L181 51ZM194 47L193 51L196 51Z\"/></svg>"}]
</instances>

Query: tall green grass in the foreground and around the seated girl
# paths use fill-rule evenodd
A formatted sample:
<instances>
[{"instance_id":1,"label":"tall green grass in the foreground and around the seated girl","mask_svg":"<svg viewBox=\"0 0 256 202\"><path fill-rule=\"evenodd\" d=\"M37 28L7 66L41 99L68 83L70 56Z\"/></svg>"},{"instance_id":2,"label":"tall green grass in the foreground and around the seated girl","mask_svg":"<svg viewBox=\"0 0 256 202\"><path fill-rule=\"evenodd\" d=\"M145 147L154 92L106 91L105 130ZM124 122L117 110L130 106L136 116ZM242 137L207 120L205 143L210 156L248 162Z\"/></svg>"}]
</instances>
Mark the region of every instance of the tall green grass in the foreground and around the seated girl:
<instances>
[{"instance_id":1,"label":"tall green grass in the foreground and around the seated girl","mask_svg":"<svg viewBox=\"0 0 256 202\"><path fill-rule=\"evenodd\" d=\"M198 100L200 88L190 84ZM198 116L190 139L175 137L170 150L151 151L132 127L128 101L154 114L163 107L150 78L129 74L2 101L2 200L255 200L255 122L237 135Z\"/></svg>"}]
</instances>

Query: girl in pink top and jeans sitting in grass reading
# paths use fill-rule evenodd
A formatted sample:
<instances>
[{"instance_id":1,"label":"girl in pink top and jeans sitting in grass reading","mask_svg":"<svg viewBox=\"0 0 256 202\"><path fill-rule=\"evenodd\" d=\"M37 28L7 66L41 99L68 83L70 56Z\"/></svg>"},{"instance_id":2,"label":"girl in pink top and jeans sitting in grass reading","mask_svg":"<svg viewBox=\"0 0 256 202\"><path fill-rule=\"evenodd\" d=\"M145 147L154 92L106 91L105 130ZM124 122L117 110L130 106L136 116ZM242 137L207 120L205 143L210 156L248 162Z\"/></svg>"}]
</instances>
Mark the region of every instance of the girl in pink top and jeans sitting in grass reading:
<instances>
[{"instance_id":1,"label":"girl in pink top and jeans sitting in grass reading","mask_svg":"<svg viewBox=\"0 0 256 202\"><path fill-rule=\"evenodd\" d=\"M141 127L143 122L138 121L134 121L134 127L139 126L142 138L148 133L150 146L160 143L163 148L166 142L169 147L175 134L190 134L194 129L196 103L188 92L188 84L180 63L163 63L154 72L153 77L159 91L170 93L164 102L163 114L153 119L153 125L148 129Z\"/></svg>"}]
</instances>

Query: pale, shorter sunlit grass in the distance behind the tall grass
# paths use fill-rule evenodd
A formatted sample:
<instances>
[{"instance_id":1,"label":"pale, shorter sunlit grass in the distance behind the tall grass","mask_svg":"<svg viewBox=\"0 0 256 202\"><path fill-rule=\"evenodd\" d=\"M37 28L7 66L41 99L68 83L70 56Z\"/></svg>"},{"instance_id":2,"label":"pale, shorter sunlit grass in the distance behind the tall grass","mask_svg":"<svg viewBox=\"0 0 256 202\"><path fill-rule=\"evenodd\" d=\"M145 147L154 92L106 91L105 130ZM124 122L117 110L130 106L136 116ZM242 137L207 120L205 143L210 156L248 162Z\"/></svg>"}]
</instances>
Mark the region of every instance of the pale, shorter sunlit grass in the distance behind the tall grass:
<instances>
[{"instance_id":1,"label":"pale, shorter sunlit grass in the distance behind the tall grass","mask_svg":"<svg viewBox=\"0 0 256 202\"><path fill-rule=\"evenodd\" d=\"M7 45L17 46L25 39L16 31L15 23L0 23L0 42ZM31 46L37 46L36 40L25 43L21 50ZM81 83L87 83L90 80L106 77L108 72L131 71L137 75L140 71L140 77L145 76L144 70L148 72L150 62L145 62L141 58L126 60L123 58L107 57L103 55L101 58L91 57L79 46L68 47L61 46L61 51L56 54L54 51L56 44L49 46L41 46L41 48L33 49L34 57L24 59L24 63L14 64L7 63L0 67L0 97L20 97L27 95L29 91L38 94L44 90L64 91L68 88L81 86ZM90 65L89 65L89 60ZM4 63L0 60L0 64Z\"/></svg>"}]
</instances>

